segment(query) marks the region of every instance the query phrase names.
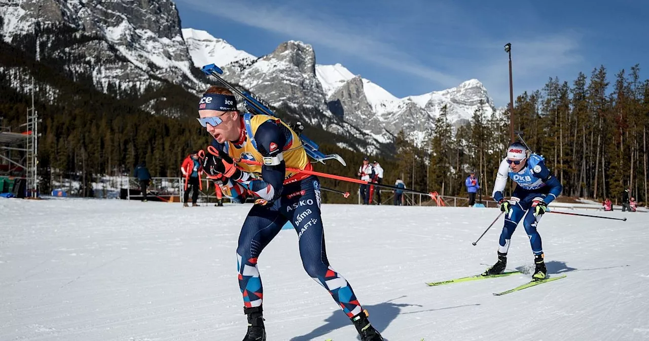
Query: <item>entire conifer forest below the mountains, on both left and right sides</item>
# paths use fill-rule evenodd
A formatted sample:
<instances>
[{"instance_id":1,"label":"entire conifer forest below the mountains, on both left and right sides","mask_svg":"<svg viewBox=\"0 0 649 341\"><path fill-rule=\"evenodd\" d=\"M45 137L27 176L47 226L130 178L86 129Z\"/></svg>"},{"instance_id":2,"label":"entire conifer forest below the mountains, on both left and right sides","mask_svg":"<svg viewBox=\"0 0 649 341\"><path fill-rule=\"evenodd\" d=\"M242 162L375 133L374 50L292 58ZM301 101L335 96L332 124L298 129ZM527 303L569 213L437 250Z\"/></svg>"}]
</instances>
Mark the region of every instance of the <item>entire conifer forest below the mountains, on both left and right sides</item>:
<instances>
[{"instance_id":1,"label":"entire conifer forest below the mountains, on both left and right sides","mask_svg":"<svg viewBox=\"0 0 649 341\"><path fill-rule=\"evenodd\" d=\"M81 183L80 195L92 196L89 184L98 175L127 174L139 162L145 162L154 177L176 177L183 158L210 142L194 119L197 97L178 91L178 86L168 84L139 98L121 94L116 99L114 94L94 90L87 80L67 79L11 45L0 43L0 47L2 66L27 69L37 83L60 92L53 102L36 95L42 118L38 151L42 193L52 189L54 179L74 177ZM0 116L3 125L18 127L31 97L12 88L6 70L0 68ZM563 196L610 197L615 202L628 187L631 196L646 202L649 81L641 78L640 71L635 65L613 74L601 66L570 80L550 78L544 88L515 99L515 129L524 133L535 153L545 157L563 184ZM182 114L154 115L140 108L157 97L167 100L158 103L156 110L164 112L165 105L173 105ZM278 114L291 116L283 110ZM394 149L369 157L385 169L384 184L401 178L408 188L444 196L464 196L464 179L475 171L482 196L489 199L509 144L509 114L505 110L486 116L476 111L469 123L453 127L442 110L423 143L415 145L400 132ZM332 161L315 164L315 170L356 177L362 153L337 147L337 138L321 129L307 127L305 133L325 153L339 153L348 163L347 167ZM322 184L352 194L358 189L358 184L331 179L322 179ZM353 196L344 199L330 192L324 192L323 199L356 202Z\"/></svg>"}]
</instances>

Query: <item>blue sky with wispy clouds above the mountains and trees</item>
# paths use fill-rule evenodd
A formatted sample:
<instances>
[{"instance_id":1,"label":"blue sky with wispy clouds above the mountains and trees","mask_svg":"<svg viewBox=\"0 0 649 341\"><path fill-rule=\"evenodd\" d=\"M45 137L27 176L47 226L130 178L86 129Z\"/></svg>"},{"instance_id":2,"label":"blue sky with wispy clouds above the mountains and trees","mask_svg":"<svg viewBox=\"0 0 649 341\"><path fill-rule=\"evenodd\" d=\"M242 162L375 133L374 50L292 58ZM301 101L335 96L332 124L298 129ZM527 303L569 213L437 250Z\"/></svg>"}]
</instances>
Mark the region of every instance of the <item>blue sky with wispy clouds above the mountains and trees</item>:
<instances>
[{"instance_id":1,"label":"blue sky with wispy clouds above the mountains and trees","mask_svg":"<svg viewBox=\"0 0 649 341\"><path fill-rule=\"evenodd\" d=\"M209 5L208 5L209 4ZM612 79L640 64L649 78L649 1L177 0L183 28L252 55L286 40L313 45L317 64L343 64L397 97L480 80L495 105L549 77L572 81L600 65ZM644 68L644 69L643 69Z\"/></svg>"}]
</instances>

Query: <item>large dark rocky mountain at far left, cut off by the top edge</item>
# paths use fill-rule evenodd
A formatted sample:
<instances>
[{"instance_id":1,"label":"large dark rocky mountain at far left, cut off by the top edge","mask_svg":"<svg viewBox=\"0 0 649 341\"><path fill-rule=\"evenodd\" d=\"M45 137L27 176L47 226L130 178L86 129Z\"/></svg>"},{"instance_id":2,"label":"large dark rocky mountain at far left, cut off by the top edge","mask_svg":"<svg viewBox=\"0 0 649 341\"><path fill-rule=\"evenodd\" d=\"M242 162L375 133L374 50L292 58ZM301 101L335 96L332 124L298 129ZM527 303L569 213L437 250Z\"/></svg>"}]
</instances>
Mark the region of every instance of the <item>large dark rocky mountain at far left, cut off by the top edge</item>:
<instances>
[{"instance_id":1,"label":"large dark rocky mountain at far left, cut off by the top edge","mask_svg":"<svg viewBox=\"0 0 649 341\"><path fill-rule=\"evenodd\" d=\"M6 43L60 62L71 79L92 77L103 92L167 82L197 94L206 86L172 0L5 0L0 13Z\"/></svg>"}]
</instances>

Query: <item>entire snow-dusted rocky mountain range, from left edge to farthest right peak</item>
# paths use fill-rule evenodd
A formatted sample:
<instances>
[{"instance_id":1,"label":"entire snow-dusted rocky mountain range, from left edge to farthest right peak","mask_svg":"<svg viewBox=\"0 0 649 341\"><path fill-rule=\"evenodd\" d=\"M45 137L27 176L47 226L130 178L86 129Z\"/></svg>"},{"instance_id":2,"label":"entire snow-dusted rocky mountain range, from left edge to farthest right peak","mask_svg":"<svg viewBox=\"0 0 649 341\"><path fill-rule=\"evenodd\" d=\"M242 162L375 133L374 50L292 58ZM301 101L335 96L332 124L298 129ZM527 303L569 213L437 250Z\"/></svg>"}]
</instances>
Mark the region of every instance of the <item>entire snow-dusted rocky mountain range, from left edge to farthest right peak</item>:
<instances>
[{"instance_id":1,"label":"entire snow-dusted rocky mountain range, from left edge to farthest right peak","mask_svg":"<svg viewBox=\"0 0 649 341\"><path fill-rule=\"evenodd\" d=\"M181 30L173 0L0 0L0 16L6 44L84 86L92 83L116 96L156 94L141 105L156 114L180 112L156 111L168 107L160 105L167 101L157 95L160 89L177 95L176 88L169 89L180 85L187 91L176 108L186 108L201 94L212 80L197 67L210 63L223 68L228 81L297 113L313 127L354 140L352 149L365 153L376 153L400 129L415 135L428 130L443 105L452 121L469 118L481 101L491 112L491 100L476 80L397 98L340 64L317 65L313 47L302 42L284 42L256 57L208 32ZM21 84L31 79L28 69L0 65L0 71L16 90L27 92ZM54 84L36 87L56 95Z\"/></svg>"}]
</instances>

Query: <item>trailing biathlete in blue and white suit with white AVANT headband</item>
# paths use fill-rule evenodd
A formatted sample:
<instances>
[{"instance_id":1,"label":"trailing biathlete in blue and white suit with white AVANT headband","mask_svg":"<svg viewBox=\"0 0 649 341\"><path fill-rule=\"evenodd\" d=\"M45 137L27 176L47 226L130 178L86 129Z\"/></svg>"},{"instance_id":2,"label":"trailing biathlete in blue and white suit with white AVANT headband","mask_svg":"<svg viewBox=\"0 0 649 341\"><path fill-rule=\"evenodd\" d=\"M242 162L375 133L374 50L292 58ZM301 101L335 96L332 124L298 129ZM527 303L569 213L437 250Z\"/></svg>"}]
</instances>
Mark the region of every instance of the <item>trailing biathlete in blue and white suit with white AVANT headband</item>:
<instances>
[{"instance_id":1,"label":"trailing biathlete in blue and white suit with white AVANT headband","mask_svg":"<svg viewBox=\"0 0 649 341\"><path fill-rule=\"evenodd\" d=\"M511 199L506 200L502 192L508 177L517 186ZM493 199L498 201L500 210L506 212L505 224L502 227L502 233L500 233L498 262L482 275L495 275L505 271L511 234L514 233L522 219L525 232L530 238L536 264L532 279L545 279L547 270L543 261L543 245L541 244L541 235L536 228L541 216L547 210L548 204L561 194L561 190L563 190L563 186L545 166L545 159L542 156L531 153L520 142L509 145L507 157L500 162L500 167L498 167L492 194Z\"/></svg>"}]
</instances>

